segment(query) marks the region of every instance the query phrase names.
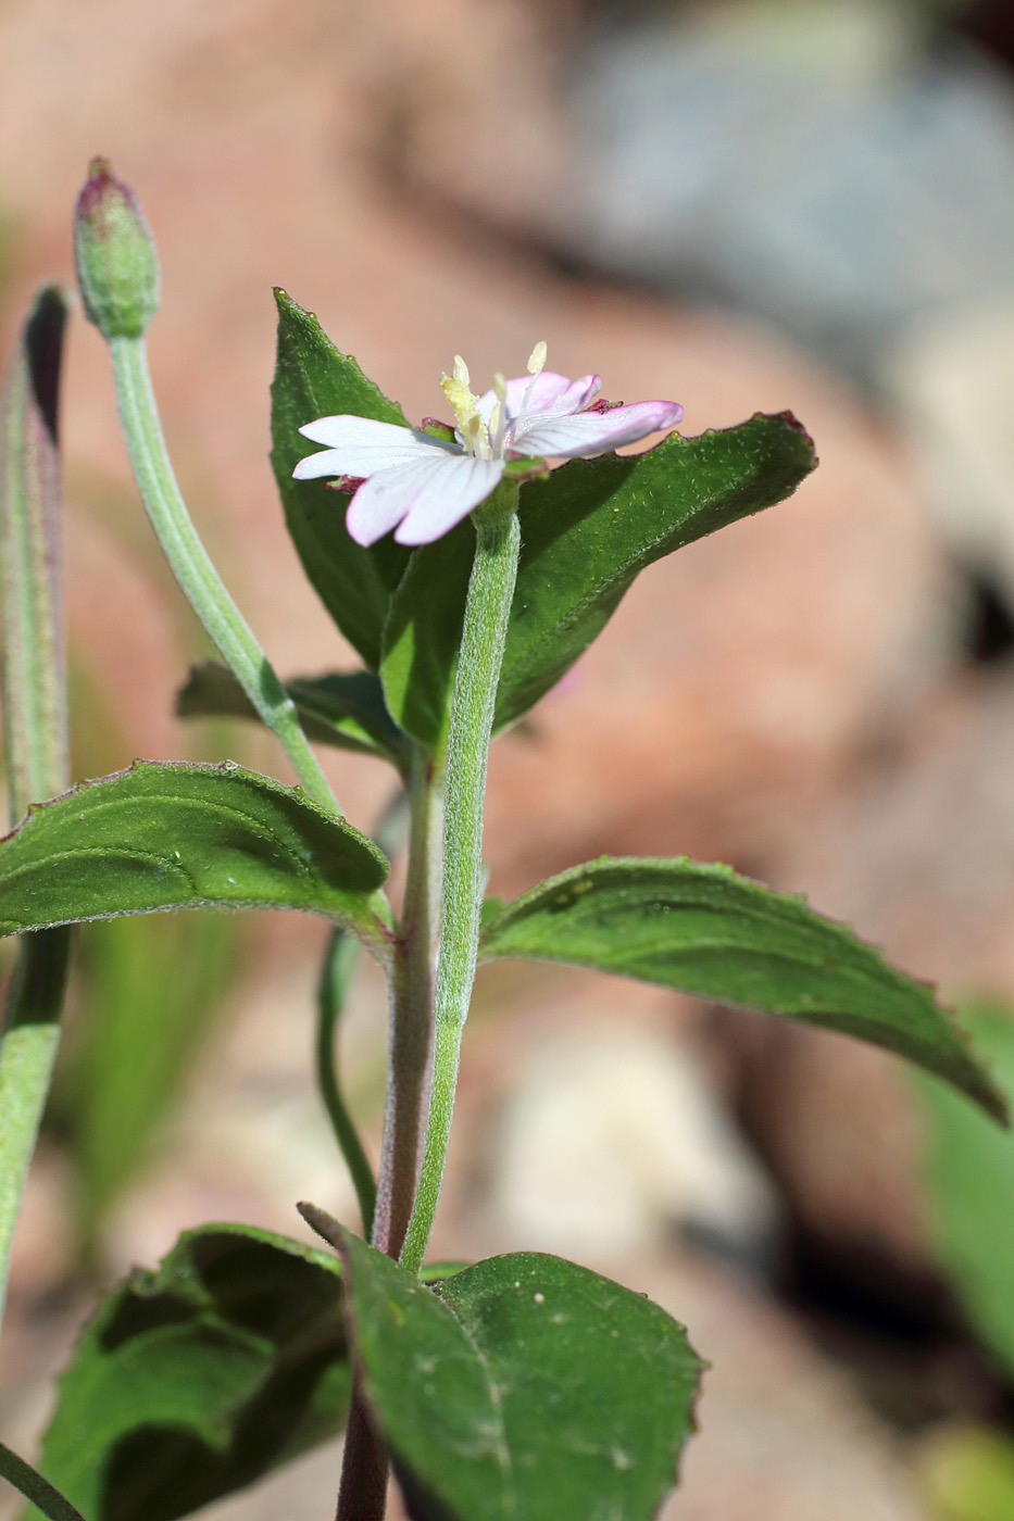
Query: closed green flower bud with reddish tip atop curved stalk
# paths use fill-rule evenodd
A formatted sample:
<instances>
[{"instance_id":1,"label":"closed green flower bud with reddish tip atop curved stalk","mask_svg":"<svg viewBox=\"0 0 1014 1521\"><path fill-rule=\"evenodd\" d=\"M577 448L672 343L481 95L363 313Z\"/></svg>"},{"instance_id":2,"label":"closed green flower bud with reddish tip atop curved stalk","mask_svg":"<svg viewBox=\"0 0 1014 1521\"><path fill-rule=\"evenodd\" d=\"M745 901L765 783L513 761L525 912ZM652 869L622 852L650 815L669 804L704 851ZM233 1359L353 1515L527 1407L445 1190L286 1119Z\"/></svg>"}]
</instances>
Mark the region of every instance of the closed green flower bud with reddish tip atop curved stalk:
<instances>
[{"instance_id":1,"label":"closed green flower bud with reddish tip atop curved stalk","mask_svg":"<svg viewBox=\"0 0 1014 1521\"><path fill-rule=\"evenodd\" d=\"M107 158L93 158L75 208L85 316L104 338L140 338L158 310L158 257L140 202Z\"/></svg>"}]
</instances>

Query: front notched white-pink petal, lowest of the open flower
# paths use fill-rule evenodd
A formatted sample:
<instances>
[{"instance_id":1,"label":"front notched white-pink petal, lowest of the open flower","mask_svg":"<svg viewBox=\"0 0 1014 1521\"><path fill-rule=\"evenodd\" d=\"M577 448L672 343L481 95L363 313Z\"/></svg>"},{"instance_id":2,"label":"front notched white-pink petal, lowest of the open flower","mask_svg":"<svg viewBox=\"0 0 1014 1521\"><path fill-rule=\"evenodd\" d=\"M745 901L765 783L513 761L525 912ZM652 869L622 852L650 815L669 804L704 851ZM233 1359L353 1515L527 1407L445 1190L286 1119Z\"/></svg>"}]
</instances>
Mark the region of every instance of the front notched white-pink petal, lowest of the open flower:
<instances>
[{"instance_id":1,"label":"front notched white-pink petal, lowest of the open flower","mask_svg":"<svg viewBox=\"0 0 1014 1521\"><path fill-rule=\"evenodd\" d=\"M373 545L391 528L399 545L428 545L484 502L504 473L501 459L440 453L379 470L359 487L346 517L358 545Z\"/></svg>"}]
</instances>

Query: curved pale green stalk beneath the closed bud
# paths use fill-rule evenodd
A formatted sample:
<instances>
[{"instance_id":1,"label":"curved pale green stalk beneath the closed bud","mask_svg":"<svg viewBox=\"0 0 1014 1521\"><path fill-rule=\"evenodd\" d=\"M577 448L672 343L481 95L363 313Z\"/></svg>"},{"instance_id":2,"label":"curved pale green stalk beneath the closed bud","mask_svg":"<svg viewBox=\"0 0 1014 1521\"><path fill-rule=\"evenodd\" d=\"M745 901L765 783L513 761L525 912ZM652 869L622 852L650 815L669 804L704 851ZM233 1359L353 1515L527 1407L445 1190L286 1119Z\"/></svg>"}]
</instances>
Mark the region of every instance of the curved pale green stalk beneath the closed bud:
<instances>
[{"instance_id":1,"label":"curved pale green stalk beneath the closed bud","mask_svg":"<svg viewBox=\"0 0 1014 1521\"><path fill-rule=\"evenodd\" d=\"M308 797L341 818L335 795L303 733L295 704L225 590L190 520L161 433L145 339L111 338L110 354L134 479L172 572L259 716L280 741Z\"/></svg>"}]
</instances>

